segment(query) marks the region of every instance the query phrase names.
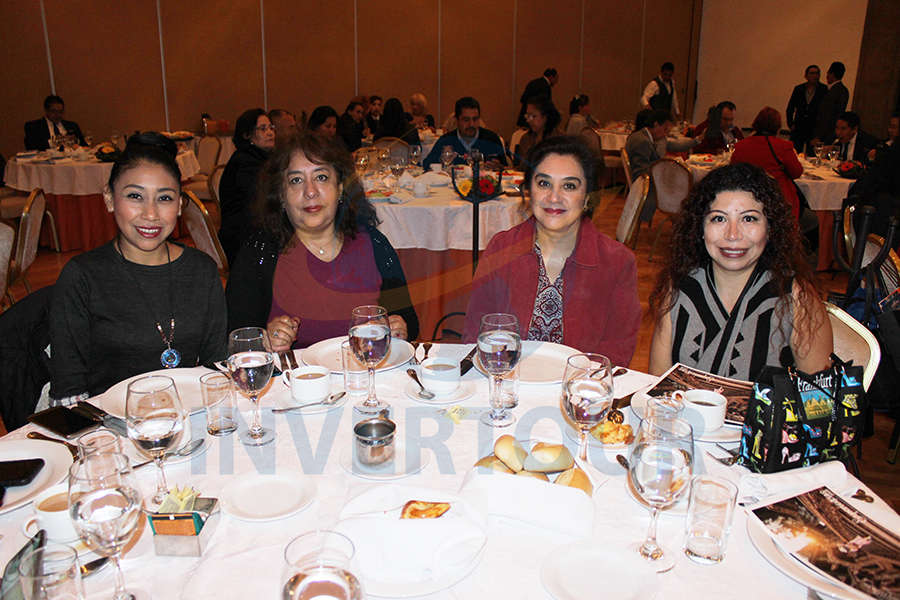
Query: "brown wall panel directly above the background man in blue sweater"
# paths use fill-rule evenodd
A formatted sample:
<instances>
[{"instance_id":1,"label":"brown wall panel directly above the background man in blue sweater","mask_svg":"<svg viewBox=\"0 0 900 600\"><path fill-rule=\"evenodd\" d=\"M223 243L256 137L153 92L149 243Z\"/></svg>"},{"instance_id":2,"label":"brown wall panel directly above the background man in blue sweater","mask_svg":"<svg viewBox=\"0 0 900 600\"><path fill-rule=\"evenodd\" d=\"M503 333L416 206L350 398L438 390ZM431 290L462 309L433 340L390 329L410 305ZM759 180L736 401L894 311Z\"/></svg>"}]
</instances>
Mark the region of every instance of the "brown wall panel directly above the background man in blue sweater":
<instances>
[{"instance_id":1,"label":"brown wall panel directly above the background man in blue sweater","mask_svg":"<svg viewBox=\"0 0 900 600\"><path fill-rule=\"evenodd\" d=\"M507 138L517 114L510 114L513 0L445 1L441 11L439 118L450 115L460 97L474 96L488 126Z\"/></svg>"}]
</instances>

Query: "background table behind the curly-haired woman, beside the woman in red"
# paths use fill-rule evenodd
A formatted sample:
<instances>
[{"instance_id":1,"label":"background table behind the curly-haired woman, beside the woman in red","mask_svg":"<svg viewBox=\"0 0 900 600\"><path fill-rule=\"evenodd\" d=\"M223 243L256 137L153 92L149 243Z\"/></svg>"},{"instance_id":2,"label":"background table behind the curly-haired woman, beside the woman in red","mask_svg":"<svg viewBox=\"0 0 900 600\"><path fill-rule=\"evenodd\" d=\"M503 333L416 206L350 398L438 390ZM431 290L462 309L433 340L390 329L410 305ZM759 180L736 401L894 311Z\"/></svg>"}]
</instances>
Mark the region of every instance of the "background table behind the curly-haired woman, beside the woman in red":
<instances>
[{"instance_id":1,"label":"background table behind the curly-haired woman, beside the woman in red","mask_svg":"<svg viewBox=\"0 0 900 600\"><path fill-rule=\"evenodd\" d=\"M694 154L688 160L694 181L700 181L707 173L719 166L717 162L707 162L716 157L708 154ZM803 175L796 179L797 187L803 192L809 207L816 211L819 220L819 257L817 271L824 271L831 266L833 258L832 234L834 233L834 217L832 213L841 210L847 191L853 185L853 179L845 179L835 173L830 166L813 166L806 158L800 157Z\"/></svg>"}]
</instances>

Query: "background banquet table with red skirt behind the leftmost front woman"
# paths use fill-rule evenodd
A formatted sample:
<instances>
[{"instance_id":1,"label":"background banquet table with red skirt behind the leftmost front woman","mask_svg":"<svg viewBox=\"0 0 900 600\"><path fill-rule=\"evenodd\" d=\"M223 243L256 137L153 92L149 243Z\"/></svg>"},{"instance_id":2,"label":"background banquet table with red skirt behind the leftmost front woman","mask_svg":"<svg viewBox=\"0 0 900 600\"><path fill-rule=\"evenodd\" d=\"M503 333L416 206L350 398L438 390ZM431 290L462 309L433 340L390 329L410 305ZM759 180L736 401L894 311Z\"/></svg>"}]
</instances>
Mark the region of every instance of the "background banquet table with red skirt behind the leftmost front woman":
<instances>
[{"instance_id":1,"label":"background banquet table with red skirt behind the leftmost front woman","mask_svg":"<svg viewBox=\"0 0 900 600\"><path fill-rule=\"evenodd\" d=\"M197 156L185 150L176 157L182 178L200 170ZM103 203L103 188L109 180L112 163L75 160L70 157L13 158L6 163L4 179L9 187L30 192L41 188L47 198L47 210L56 218L59 245L63 252L90 250L105 244L116 233L116 224ZM41 243L49 245L44 228Z\"/></svg>"}]
</instances>

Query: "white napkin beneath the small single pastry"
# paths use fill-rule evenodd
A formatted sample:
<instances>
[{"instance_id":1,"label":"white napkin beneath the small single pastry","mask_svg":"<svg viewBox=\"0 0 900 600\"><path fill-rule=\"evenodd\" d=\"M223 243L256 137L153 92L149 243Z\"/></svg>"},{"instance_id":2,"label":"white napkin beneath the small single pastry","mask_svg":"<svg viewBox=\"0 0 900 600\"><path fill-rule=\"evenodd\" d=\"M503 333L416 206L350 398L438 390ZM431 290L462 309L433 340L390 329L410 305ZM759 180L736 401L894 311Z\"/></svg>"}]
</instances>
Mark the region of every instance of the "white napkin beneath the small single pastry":
<instances>
[{"instance_id":1,"label":"white napkin beneath the small single pastry","mask_svg":"<svg viewBox=\"0 0 900 600\"><path fill-rule=\"evenodd\" d=\"M438 519L401 519L410 500L448 502ZM487 541L484 517L455 494L408 486L376 486L352 499L335 526L353 541L367 586L440 579L471 568Z\"/></svg>"}]
</instances>

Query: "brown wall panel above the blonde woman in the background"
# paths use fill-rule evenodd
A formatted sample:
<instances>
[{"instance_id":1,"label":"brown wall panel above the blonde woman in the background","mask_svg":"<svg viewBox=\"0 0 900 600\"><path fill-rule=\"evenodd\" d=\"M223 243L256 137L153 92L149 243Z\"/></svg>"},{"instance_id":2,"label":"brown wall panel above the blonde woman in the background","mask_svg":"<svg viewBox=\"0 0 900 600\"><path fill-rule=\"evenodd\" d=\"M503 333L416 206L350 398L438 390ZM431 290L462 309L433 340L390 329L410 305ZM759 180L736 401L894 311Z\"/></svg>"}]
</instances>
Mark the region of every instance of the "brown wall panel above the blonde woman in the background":
<instances>
[{"instance_id":1,"label":"brown wall panel above the blonde woman in the background","mask_svg":"<svg viewBox=\"0 0 900 600\"><path fill-rule=\"evenodd\" d=\"M422 92L430 111L439 112L437 0L358 6L360 93L396 96L408 109L410 95Z\"/></svg>"}]
</instances>

